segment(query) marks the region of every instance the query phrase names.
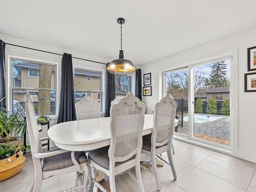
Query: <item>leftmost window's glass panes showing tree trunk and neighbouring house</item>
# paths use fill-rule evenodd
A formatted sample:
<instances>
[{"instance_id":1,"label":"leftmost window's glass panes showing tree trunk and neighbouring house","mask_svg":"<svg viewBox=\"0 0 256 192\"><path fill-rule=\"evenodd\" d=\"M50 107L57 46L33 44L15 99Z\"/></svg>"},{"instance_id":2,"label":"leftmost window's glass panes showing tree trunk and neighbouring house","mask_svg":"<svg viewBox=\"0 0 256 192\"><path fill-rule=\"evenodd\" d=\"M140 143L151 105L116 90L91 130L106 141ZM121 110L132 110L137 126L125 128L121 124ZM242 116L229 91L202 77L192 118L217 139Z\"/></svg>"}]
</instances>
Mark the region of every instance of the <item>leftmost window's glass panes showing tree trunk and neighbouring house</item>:
<instances>
[{"instance_id":1,"label":"leftmost window's glass panes showing tree trunk and neighbouring house","mask_svg":"<svg viewBox=\"0 0 256 192\"><path fill-rule=\"evenodd\" d=\"M26 94L29 93L37 115L56 115L56 67L14 58L11 59L11 65L12 110L25 111Z\"/></svg>"}]
</instances>

